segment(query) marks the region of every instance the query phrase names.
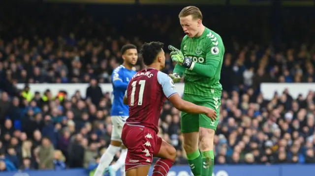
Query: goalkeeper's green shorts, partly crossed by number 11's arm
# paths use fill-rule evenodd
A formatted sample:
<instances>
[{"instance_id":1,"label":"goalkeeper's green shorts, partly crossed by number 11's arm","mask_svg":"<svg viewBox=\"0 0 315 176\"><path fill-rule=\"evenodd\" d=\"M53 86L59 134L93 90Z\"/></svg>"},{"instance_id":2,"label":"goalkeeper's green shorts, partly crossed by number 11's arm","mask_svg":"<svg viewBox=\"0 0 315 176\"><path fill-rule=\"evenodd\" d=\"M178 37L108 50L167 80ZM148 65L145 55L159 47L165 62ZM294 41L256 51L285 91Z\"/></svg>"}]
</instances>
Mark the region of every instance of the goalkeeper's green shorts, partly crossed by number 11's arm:
<instances>
[{"instance_id":1,"label":"goalkeeper's green shorts, partly crossed by number 11's arm","mask_svg":"<svg viewBox=\"0 0 315 176\"><path fill-rule=\"evenodd\" d=\"M190 133L199 131L199 127L217 130L221 97L202 97L197 95L184 94L183 100L192 102L200 106L206 106L217 111L217 120L212 122L205 114L189 114L182 112L181 114L181 131L182 133Z\"/></svg>"}]
</instances>

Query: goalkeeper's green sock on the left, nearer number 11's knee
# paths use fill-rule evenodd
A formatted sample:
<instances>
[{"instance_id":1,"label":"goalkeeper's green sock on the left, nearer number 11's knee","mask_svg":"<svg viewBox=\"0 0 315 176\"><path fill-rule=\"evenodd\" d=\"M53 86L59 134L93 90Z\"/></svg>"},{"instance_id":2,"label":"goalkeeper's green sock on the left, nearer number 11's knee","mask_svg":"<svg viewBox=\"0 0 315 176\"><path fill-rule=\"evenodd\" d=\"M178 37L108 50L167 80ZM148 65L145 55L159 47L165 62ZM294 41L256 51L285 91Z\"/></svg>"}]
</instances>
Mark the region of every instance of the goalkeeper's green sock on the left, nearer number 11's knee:
<instances>
[{"instance_id":1,"label":"goalkeeper's green sock on the left, nearer number 11's knee","mask_svg":"<svg viewBox=\"0 0 315 176\"><path fill-rule=\"evenodd\" d=\"M201 156L199 150L187 153L190 170L194 176L201 176Z\"/></svg>"}]
</instances>

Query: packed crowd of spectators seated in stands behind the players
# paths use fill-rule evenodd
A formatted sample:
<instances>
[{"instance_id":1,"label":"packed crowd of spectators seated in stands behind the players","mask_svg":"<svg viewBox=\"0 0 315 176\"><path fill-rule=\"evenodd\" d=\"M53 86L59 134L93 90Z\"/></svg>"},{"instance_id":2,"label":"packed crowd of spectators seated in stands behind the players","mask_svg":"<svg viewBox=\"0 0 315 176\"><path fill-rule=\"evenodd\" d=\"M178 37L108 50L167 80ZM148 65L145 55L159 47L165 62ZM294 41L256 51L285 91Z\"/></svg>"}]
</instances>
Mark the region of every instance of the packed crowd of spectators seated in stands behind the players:
<instances>
[{"instance_id":1,"label":"packed crowd of spectators seated in stands behind the players","mask_svg":"<svg viewBox=\"0 0 315 176\"><path fill-rule=\"evenodd\" d=\"M67 15L57 14L56 8L52 9L55 16L50 17L54 22ZM122 45L139 47L150 33L139 36L136 29L130 29L126 36L117 35L120 30L115 24L97 25L92 17L82 16L86 15L82 10L72 14L77 21L69 16L71 24L56 23L63 26L58 30L31 18L27 23L0 24L0 33L7 33L0 35L0 172L94 168L108 147L111 95L97 84L111 82L113 69L122 63ZM165 41L177 44L181 40L182 33L175 37L165 34L176 19L165 17L161 23L153 16L151 24L142 18L127 19L127 24L144 21L141 27L158 31L152 38L172 38ZM96 39L94 32L103 35ZM224 92L215 136L216 164L315 163L315 93L295 100L284 91L269 101L259 92L261 82L314 82L314 46L274 50L229 42L221 72ZM137 70L143 68L140 62ZM166 64L164 72L171 73L174 64L168 53ZM44 82L91 85L87 97L63 90L58 95L50 90L33 95L27 84L23 90L16 87L17 83ZM177 149L176 164L187 164L181 146L180 111L169 103L163 106L158 135Z\"/></svg>"}]
</instances>

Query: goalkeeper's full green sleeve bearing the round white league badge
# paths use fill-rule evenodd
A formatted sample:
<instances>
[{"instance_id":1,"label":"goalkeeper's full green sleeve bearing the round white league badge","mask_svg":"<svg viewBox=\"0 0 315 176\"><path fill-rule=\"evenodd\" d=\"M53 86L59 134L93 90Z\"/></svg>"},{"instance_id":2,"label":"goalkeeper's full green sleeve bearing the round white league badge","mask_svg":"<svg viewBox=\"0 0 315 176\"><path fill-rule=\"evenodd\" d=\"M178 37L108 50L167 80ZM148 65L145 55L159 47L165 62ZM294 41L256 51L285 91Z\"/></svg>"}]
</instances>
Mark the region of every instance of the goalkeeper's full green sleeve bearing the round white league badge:
<instances>
[{"instance_id":1,"label":"goalkeeper's full green sleeve bearing the round white league badge","mask_svg":"<svg viewBox=\"0 0 315 176\"><path fill-rule=\"evenodd\" d=\"M217 38L217 37L216 37ZM207 44L206 48L206 64L193 63L190 70L206 77L213 77L217 73L221 57L224 54L224 46L222 40Z\"/></svg>"}]
</instances>

